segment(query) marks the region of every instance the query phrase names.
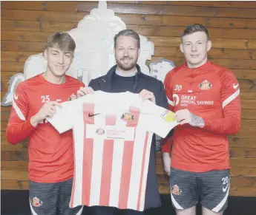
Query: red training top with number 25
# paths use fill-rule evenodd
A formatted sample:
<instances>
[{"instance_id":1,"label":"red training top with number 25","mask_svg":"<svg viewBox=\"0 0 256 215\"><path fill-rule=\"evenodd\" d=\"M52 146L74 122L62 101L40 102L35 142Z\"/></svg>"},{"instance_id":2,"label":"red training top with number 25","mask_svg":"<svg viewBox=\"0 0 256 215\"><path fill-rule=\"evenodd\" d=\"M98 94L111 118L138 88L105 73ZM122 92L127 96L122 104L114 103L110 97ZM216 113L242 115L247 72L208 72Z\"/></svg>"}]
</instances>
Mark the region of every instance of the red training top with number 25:
<instances>
[{"instance_id":1,"label":"red training top with number 25","mask_svg":"<svg viewBox=\"0 0 256 215\"><path fill-rule=\"evenodd\" d=\"M33 182L61 182L73 177L72 131L59 134L47 120L35 128L30 118L47 101L61 103L75 99L81 86L85 84L68 75L65 83L54 84L46 81L42 74L17 86L6 134L12 144L29 137L28 174Z\"/></svg>"}]
</instances>

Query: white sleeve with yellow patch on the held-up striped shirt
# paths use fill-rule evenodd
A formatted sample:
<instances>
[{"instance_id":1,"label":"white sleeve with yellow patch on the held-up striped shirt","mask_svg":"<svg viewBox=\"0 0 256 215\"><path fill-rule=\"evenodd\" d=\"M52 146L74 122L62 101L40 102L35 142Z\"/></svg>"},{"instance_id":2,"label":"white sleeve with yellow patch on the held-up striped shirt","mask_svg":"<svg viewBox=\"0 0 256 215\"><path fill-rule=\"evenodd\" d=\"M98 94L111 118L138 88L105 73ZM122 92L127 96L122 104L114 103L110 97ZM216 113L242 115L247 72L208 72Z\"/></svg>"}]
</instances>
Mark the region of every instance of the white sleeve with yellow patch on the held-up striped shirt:
<instances>
[{"instance_id":1,"label":"white sleeve with yellow patch on the held-up striped shirt","mask_svg":"<svg viewBox=\"0 0 256 215\"><path fill-rule=\"evenodd\" d=\"M145 100L142 103L141 115L141 125L149 132L153 132L163 138L178 124L174 120L174 112L157 106L149 100Z\"/></svg>"}]
</instances>

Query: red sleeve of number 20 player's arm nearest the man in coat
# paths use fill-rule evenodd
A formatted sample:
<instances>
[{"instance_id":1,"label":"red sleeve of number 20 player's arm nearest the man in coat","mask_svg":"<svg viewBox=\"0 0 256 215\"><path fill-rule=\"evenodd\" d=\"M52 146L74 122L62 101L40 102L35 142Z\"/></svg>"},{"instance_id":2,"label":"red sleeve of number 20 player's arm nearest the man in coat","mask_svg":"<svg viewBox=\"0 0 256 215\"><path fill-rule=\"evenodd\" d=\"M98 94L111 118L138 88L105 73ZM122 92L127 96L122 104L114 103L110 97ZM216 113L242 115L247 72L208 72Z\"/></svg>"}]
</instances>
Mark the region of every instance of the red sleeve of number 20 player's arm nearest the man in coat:
<instances>
[{"instance_id":1,"label":"red sleeve of number 20 player's arm nearest the man in coat","mask_svg":"<svg viewBox=\"0 0 256 215\"><path fill-rule=\"evenodd\" d=\"M167 96L168 100L168 107L169 109L174 112L174 99L172 97L172 86L171 86L171 78L172 78L172 71L168 72L168 74L165 76L164 86L165 86L165 94ZM165 137L165 139L162 140L162 151L163 152L171 152L171 143L172 143L172 136L171 137Z\"/></svg>"}]
</instances>

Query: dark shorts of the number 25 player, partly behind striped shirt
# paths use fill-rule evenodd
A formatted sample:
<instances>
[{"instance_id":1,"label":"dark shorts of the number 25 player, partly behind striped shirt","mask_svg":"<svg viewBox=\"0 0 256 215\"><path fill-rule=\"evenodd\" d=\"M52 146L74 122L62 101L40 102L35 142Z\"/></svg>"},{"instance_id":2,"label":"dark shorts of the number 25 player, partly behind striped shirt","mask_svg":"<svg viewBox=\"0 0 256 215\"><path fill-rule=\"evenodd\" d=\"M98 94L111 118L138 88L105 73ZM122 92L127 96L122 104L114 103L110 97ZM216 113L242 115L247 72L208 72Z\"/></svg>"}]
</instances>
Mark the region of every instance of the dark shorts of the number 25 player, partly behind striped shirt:
<instances>
[{"instance_id":1,"label":"dark shorts of the number 25 player, partly behind striped shirt","mask_svg":"<svg viewBox=\"0 0 256 215\"><path fill-rule=\"evenodd\" d=\"M30 181L30 210L31 214L80 215L82 206L69 208L73 180L56 183L37 183Z\"/></svg>"}]
</instances>

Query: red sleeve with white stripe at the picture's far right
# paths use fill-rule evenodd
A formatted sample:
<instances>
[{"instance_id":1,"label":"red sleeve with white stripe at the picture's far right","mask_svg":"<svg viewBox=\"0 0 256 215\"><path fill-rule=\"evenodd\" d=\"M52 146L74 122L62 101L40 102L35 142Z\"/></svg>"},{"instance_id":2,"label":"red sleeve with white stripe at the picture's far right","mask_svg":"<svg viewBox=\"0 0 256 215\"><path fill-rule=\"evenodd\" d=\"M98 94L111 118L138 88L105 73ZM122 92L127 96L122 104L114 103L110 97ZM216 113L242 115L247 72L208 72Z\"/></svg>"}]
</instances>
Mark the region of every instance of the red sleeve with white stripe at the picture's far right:
<instances>
[{"instance_id":1,"label":"red sleeve with white stripe at the picture's far right","mask_svg":"<svg viewBox=\"0 0 256 215\"><path fill-rule=\"evenodd\" d=\"M240 130L240 89L237 78L229 70L220 71L220 101L223 118L203 118L204 130L217 134L236 134Z\"/></svg>"}]
</instances>

